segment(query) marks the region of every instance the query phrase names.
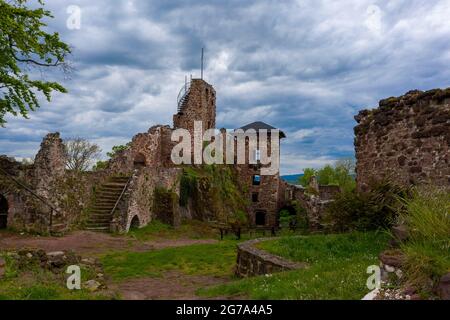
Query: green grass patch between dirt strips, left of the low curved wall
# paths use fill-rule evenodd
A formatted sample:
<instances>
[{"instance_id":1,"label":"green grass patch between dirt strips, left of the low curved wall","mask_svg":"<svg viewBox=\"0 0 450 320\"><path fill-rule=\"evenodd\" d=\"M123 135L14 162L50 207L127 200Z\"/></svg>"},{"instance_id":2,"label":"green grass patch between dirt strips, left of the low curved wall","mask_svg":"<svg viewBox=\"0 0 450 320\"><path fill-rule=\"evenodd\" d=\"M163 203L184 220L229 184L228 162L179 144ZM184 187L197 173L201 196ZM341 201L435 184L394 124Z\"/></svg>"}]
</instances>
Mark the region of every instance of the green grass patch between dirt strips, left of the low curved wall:
<instances>
[{"instance_id":1,"label":"green grass patch between dirt strips, left of the low curved wall","mask_svg":"<svg viewBox=\"0 0 450 320\"><path fill-rule=\"evenodd\" d=\"M159 277L170 270L190 275L231 276L235 261L235 241L148 252L114 252L102 257L106 274L114 280Z\"/></svg>"}]
</instances>

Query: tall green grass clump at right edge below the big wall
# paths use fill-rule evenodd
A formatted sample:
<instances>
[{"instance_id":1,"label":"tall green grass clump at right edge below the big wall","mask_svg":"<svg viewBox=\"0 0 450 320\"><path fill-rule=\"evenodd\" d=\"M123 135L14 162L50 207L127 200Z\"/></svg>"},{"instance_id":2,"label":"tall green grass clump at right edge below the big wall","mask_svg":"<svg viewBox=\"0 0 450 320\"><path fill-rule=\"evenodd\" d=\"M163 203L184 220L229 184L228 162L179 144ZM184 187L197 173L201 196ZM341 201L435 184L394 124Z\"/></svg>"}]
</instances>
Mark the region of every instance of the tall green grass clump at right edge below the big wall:
<instances>
[{"instance_id":1,"label":"tall green grass clump at right edge below the big wall","mask_svg":"<svg viewBox=\"0 0 450 320\"><path fill-rule=\"evenodd\" d=\"M404 204L400 219L408 227L409 239L401 244L406 256L403 270L410 284L429 293L430 283L450 271L450 192L415 190Z\"/></svg>"}]
</instances>

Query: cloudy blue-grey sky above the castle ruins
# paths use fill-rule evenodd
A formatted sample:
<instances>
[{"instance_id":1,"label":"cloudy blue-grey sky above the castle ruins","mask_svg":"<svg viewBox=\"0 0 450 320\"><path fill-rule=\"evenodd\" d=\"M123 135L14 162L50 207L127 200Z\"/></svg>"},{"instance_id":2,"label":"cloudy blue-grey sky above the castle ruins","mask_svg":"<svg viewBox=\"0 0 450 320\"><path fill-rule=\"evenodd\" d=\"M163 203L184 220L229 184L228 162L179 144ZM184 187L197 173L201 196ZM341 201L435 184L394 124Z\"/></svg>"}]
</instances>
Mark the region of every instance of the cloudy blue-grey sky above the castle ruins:
<instances>
[{"instance_id":1,"label":"cloudy blue-grey sky above the castle ruins","mask_svg":"<svg viewBox=\"0 0 450 320\"><path fill-rule=\"evenodd\" d=\"M33 0L31 0L33 2ZM80 29L71 29L73 7ZM47 132L104 153L171 124L185 75L217 91L217 127L285 131L282 173L353 156L353 116L411 89L450 86L450 0L47 0L73 47L68 88L7 119L0 154L32 157ZM73 17L73 16L72 16ZM69 23L68 23L69 22ZM49 77L47 75L46 77Z\"/></svg>"}]
</instances>

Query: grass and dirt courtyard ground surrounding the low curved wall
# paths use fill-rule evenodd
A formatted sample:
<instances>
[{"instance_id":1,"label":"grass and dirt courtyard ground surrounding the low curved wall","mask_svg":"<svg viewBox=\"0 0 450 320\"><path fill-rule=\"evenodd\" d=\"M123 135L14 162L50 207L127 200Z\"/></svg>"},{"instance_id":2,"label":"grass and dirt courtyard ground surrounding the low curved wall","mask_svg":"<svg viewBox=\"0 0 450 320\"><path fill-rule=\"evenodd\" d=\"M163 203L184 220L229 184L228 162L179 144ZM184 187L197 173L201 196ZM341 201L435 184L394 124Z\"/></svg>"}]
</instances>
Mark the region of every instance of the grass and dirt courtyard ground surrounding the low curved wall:
<instances>
[{"instance_id":1,"label":"grass and dirt courtyard ground surrounding the low curved wall","mask_svg":"<svg viewBox=\"0 0 450 320\"><path fill-rule=\"evenodd\" d=\"M0 280L0 299L360 299L367 292L366 268L377 263L386 244L386 235L379 233L283 236L261 248L307 262L310 268L238 279L234 265L239 241L218 238L201 225L175 230L151 224L127 236L76 231L52 238L3 231L0 253L40 248L95 257L103 266L107 289L71 292L65 288L66 275L12 270Z\"/></svg>"}]
</instances>

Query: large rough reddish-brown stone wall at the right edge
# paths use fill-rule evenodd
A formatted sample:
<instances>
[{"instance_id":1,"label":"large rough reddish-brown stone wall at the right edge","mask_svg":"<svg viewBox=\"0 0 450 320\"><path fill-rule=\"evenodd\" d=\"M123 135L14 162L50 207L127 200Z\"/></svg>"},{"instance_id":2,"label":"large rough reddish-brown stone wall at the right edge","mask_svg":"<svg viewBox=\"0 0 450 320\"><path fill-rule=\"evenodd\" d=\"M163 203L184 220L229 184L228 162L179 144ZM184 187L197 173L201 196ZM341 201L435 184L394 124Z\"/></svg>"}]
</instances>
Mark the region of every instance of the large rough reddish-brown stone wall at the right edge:
<instances>
[{"instance_id":1,"label":"large rough reddish-brown stone wall at the right edge","mask_svg":"<svg viewBox=\"0 0 450 320\"><path fill-rule=\"evenodd\" d=\"M355 119L359 190L386 176L407 185L450 185L450 88L381 100Z\"/></svg>"}]
</instances>

